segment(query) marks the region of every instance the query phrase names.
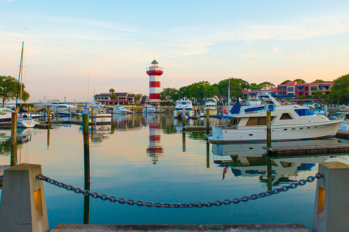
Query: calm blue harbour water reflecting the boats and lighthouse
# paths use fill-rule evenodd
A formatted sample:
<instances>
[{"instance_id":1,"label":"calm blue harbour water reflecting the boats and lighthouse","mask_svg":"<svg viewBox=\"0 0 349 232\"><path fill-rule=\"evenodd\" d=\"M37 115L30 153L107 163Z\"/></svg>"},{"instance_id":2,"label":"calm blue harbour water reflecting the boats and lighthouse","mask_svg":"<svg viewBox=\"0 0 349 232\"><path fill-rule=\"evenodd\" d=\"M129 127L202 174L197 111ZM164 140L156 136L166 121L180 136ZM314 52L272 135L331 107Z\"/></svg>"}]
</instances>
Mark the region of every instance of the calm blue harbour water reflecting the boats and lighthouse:
<instances>
[{"instance_id":1,"label":"calm blue harbour water reflecting the boats and lighthouse","mask_svg":"<svg viewBox=\"0 0 349 232\"><path fill-rule=\"evenodd\" d=\"M206 125L204 120L187 123ZM173 120L171 114L115 116L112 125L97 125L91 132L92 192L136 201L182 203L267 191L267 159L261 156L263 144L206 144L204 132L183 133L182 122ZM82 127L59 125L49 131L30 129L22 133L26 137L19 145L19 162L41 164L43 175L84 188ZM3 141L0 164L9 164L10 130L1 129L0 136ZM273 188L315 175L318 163L334 160L349 164L344 155L274 159ZM223 179L225 166L229 168ZM303 223L310 228L315 184L316 181L237 205L202 209L158 209L90 198L89 223ZM45 183L45 195L50 229L59 223L84 223L82 194Z\"/></svg>"}]
</instances>

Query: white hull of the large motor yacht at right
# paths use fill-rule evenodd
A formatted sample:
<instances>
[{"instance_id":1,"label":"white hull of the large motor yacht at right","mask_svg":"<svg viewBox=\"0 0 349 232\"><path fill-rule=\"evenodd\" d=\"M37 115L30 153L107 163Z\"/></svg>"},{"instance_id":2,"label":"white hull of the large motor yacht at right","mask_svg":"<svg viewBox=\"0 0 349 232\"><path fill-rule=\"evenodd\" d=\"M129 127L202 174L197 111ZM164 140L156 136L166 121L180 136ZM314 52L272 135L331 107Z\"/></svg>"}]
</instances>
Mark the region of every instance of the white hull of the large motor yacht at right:
<instances>
[{"instance_id":1,"label":"white hull of the large motor yacht at right","mask_svg":"<svg viewBox=\"0 0 349 232\"><path fill-rule=\"evenodd\" d=\"M272 141L331 138L336 135L343 120L344 118L322 123L272 126ZM234 129L233 127L217 126L213 127L212 136L207 138L209 142L213 143L266 142L267 127L265 125L245 126Z\"/></svg>"}]
</instances>

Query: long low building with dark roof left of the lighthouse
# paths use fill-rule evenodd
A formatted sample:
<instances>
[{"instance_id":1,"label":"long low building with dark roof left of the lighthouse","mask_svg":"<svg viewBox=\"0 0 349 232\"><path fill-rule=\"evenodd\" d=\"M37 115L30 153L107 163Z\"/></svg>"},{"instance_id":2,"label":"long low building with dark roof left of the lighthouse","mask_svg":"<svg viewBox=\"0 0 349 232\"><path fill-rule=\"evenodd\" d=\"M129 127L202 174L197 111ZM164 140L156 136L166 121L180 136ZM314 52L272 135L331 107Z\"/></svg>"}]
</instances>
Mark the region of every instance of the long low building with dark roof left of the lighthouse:
<instances>
[{"instance_id":1,"label":"long low building with dark roof left of the lighthouse","mask_svg":"<svg viewBox=\"0 0 349 232\"><path fill-rule=\"evenodd\" d=\"M136 96L136 94L132 94L130 92L115 92L114 94L117 96L117 99L115 100L110 99L110 96L112 95L111 92L96 94L94 99L95 101L104 104L135 104L134 96ZM142 96L142 94L138 95Z\"/></svg>"}]
</instances>

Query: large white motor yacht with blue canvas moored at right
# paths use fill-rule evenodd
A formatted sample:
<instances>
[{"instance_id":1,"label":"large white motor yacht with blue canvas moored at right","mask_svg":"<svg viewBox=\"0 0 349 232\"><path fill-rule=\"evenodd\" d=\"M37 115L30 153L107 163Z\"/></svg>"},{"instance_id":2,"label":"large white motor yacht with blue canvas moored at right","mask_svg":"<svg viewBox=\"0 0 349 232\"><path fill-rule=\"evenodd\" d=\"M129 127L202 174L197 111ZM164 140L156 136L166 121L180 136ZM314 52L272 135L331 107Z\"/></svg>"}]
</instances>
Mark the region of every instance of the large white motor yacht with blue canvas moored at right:
<instances>
[{"instance_id":1,"label":"large white motor yacht with blue canvas moored at right","mask_svg":"<svg viewBox=\"0 0 349 232\"><path fill-rule=\"evenodd\" d=\"M333 118L314 114L308 107L281 105L265 93L258 95L261 105L243 110L243 105L234 105L232 112L219 119L230 119L226 125L212 128L208 141L213 143L265 142L267 140L267 111L271 112L272 141L309 140L331 138L338 131L344 114ZM235 108L235 109L234 109ZM239 108L239 109L237 109Z\"/></svg>"}]
</instances>

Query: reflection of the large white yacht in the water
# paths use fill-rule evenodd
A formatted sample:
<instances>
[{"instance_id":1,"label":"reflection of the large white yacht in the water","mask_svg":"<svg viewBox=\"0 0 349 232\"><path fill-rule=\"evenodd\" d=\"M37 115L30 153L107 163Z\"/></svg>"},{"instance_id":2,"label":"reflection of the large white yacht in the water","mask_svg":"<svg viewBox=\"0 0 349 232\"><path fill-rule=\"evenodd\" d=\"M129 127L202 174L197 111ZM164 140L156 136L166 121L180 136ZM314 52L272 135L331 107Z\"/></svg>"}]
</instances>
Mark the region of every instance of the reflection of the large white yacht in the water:
<instances>
[{"instance_id":1,"label":"reflection of the large white yacht in the water","mask_svg":"<svg viewBox=\"0 0 349 232\"><path fill-rule=\"evenodd\" d=\"M275 146L276 144L277 146L296 146L296 144L334 143L338 143L338 140L333 138L299 142L275 142L273 144ZM265 144L213 144L214 162L224 168L224 172L227 172L227 168L231 168L234 177L259 176L259 181L262 183L269 181L271 185L285 185L298 181L299 172L311 170L315 164L326 162L327 159L332 157L330 155L300 155L270 158L266 156L266 151L262 149L262 146L265 146Z\"/></svg>"}]
</instances>

